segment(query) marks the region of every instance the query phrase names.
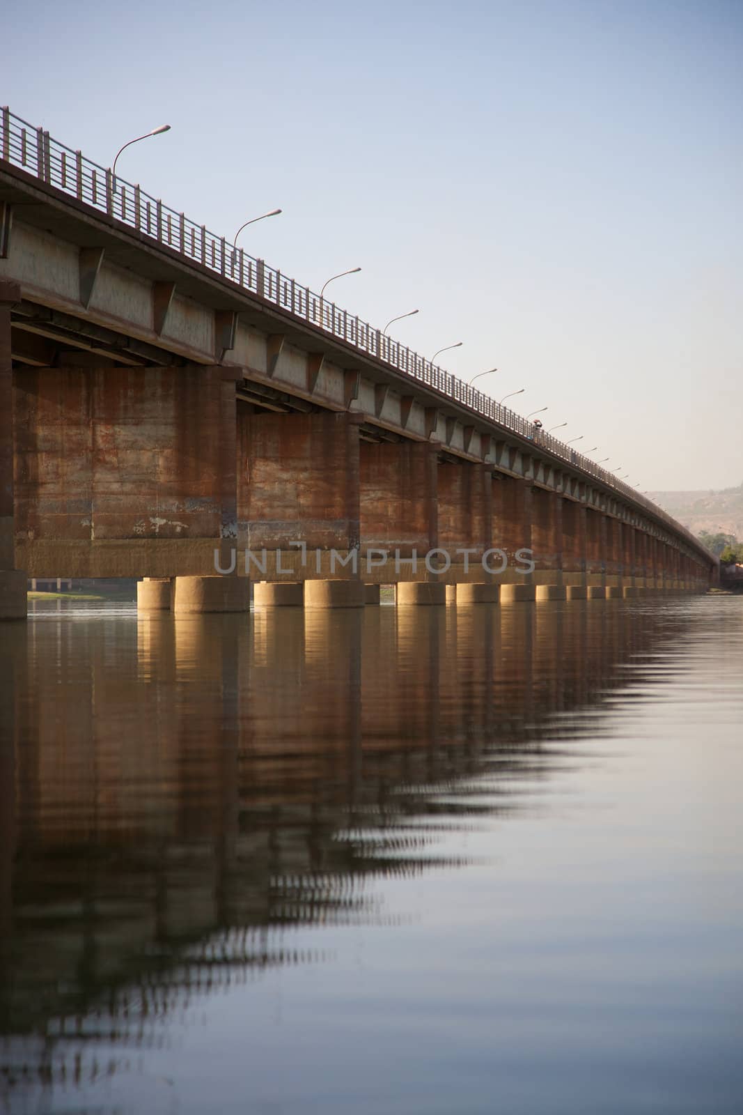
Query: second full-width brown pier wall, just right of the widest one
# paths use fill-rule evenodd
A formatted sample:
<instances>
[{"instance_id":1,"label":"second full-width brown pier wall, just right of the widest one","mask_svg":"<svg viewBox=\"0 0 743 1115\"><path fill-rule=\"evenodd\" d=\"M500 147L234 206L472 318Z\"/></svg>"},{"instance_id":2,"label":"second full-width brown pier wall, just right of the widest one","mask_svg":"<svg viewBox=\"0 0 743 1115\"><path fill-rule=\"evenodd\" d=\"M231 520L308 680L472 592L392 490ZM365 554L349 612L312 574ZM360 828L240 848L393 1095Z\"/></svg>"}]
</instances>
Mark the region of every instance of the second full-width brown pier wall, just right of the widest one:
<instances>
[{"instance_id":1,"label":"second full-width brown pier wall, just right of the widest one","mask_svg":"<svg viewBox=\"0 0 743 1115\"><path fill-rule=\"evenodd\" d=\"M266 415L241 408L238 549L257 559L251 564L255 580L334 581L361 573L360 420L345 411Z\"/></svg>"}]
</instances>

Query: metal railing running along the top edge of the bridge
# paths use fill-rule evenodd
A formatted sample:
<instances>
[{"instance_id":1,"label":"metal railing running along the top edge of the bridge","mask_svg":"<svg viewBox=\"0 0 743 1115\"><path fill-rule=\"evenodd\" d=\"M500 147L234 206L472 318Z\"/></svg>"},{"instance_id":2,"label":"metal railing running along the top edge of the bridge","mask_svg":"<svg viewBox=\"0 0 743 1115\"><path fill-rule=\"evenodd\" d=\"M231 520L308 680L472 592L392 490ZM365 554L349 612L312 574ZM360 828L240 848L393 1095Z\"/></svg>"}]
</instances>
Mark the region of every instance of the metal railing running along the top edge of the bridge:
<instances>
[{"instance_id":1,"label":"metal railing running along the top edge of the bridge","mask_svg":"<svg viewBox=\"0 0 743 1115\"><path fill-rule=\"evenodd\" d=\"M365 321L342 310L334 302L323 300L309 287L287 279L263 260L246 255L242 248L234 248L224 236L209 232L205 225L195 224L183 213L150 197L138 185L114 178L107 167L84 158L79 151L71 151L52 139L43 128L14 116L8 108L0 110L0 156L6 162L33 174L63 193L76 197L109 217L120 221L141 235L185 255L194 263L215 271L250 293L272 302L295 318L322 329L338 340L352 345L360 351L382 360L395 371L453 399L475 414L521 437L535 439L535 428L520 415L501 407L477 388L444 371L430 360ZM703 551L698 539L662 511L652 500L639 495L635 488L617 479L595 462L569 449L557 438L540 433L538 444L553 456L567 460L625 498L651 512L665 522L676 534L683 535L697 551Z\"/></svg>"}]
</instances>

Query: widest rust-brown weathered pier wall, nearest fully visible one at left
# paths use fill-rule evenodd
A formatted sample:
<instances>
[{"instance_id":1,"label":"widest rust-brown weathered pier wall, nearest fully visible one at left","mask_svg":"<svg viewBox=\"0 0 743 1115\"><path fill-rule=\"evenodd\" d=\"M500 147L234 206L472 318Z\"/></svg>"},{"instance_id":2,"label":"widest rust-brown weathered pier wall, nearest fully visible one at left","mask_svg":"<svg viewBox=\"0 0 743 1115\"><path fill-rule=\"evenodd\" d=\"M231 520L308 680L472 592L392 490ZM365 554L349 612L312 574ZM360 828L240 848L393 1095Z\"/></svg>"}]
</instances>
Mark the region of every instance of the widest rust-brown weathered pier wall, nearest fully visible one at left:
<instances>
[{"instance_id":1,"label":"widest rust-brown weathered pier wall, nearest fully visible one at left","mask_svg":"<svg viewBox=\"0 0 743 1115\"><path fill-rule=\"evenodd\" d=\"M235 544L234 382L219 368L14 372L16 542L32 576L214 572Z\"/></svg>"}]
</instances>

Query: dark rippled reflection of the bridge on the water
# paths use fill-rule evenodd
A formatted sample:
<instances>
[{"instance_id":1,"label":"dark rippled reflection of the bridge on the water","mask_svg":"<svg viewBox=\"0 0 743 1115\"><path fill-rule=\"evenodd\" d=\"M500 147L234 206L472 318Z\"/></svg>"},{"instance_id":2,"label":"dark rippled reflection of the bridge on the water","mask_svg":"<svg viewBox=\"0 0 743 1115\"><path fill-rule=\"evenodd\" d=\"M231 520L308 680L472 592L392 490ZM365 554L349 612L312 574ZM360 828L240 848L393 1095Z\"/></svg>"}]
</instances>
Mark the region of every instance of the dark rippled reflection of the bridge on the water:
<instances>
[{"instance_id":1,"label":"dark rippled reflection of the bridge on the water","mask_svg":"<svg viewBox=\"0 0 743 1115\"><path fill-rule=\"evenodd\" d=\"M6 1082L114 1070L199 995L323 961L294 927L384 920L375 876L463 863L442 832L518 809L685 622L573 602L10 631Z\"/></svg>"}]
</instances>

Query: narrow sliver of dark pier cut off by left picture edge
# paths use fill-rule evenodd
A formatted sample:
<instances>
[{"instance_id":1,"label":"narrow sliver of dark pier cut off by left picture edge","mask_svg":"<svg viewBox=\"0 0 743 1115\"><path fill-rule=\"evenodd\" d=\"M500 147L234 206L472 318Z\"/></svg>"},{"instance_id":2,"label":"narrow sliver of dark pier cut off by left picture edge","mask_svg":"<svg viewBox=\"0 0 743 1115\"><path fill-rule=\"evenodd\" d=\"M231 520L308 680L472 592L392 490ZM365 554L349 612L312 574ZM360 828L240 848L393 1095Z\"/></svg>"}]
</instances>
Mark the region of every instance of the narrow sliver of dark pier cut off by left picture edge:
<instances>
[{"instance_id":1,"label":"narrow sliver of dark pier cut off by left picture edge","mask_svg":"<svg viewBox=\"0 0 743 1115\"><path fill-rule=\"evenodd\" d=\"M16 569L13 488L13 365L10 311L21 300L18 283L0 279L0 620L26 619L27 576Z\"/></svg>"}]
</instances>

